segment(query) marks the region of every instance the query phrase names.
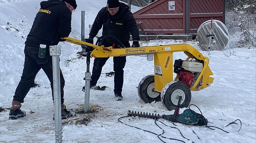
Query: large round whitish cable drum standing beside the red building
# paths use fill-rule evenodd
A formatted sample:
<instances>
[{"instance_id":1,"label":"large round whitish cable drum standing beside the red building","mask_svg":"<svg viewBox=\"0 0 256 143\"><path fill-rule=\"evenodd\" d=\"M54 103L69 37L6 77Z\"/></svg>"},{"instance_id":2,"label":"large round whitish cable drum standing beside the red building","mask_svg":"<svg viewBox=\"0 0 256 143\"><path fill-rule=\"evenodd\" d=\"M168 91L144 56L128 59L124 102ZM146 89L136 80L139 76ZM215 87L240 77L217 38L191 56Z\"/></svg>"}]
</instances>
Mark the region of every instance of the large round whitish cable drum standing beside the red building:
<instances>
[{"instance_id":1,"label":"large round whitish cable drum standing beside the red building","mask_svg":"<svg viewBox=\"0 0 256 143\"><path fill-rule=\"evenodd\" d=\"M208 20L201 24L197 30L197 41L199 42L199 47L203 51L208 51L209 42L211 41L210 50L223 51L229 48L229 31L228 28L219 20L212 20L212 32L211 32L211 20ZM214 34L207 37L207 33Z\"/></svg>"}]
</instances>

